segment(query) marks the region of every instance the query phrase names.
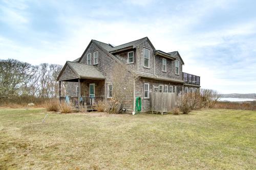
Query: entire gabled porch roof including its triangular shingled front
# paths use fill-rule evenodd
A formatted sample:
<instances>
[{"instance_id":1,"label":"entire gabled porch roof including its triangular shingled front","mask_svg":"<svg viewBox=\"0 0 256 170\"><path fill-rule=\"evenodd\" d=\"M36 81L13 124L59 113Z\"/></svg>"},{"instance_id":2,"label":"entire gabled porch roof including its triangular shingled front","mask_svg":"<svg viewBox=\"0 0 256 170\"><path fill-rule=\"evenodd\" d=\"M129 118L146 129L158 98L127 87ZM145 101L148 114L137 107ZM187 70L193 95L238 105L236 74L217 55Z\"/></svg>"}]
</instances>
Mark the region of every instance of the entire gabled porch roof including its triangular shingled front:
<instances>
[{"instance_id":1,"label":"entire gabled porch roof including its triangular shingled front","mask_svg":"<svg viewBox=\"0 0 256 170\"><path fill-rule=\"evenodd\" d=\"M105 77L93 65L67 61L60 71L57 81L71 79L105 79Z\"/></svg>"}]
</instances>

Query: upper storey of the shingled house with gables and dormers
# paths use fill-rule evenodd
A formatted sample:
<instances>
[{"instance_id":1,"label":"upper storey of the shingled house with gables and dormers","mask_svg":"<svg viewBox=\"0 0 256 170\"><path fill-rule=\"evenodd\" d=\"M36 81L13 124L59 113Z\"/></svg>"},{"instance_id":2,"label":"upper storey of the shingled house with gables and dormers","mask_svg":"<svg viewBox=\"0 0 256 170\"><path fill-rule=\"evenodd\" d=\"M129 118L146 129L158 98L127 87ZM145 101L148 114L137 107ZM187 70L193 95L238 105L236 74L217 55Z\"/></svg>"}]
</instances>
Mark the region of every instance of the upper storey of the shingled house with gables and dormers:
<instances>
[{"instance_id":1,"label":"upper storey of the shingled house with gables and dormers","mask_svg":"<svg viewBox=\"0 0 256 170\"><path fill-rule=\"evenodd\" d=\"M166 53L156 50L147 37L118 46L92 40L76 62L94 65L101 71L113 66L113 60L126 64L139 75L185 80L180 54L177 51Z\"/></svg>"}]
</instances>

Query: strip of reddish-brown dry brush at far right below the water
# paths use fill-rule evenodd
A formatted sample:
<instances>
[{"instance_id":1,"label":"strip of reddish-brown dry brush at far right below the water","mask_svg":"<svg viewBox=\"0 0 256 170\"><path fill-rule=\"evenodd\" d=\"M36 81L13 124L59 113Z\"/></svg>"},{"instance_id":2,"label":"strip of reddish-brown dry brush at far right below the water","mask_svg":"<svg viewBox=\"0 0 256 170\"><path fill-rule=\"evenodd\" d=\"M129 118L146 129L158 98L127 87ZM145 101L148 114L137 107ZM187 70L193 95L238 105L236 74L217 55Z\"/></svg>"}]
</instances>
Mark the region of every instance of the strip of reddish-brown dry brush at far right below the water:
<instances>
[{"instance_id":1,"label":"strip of reddish-brown dry brush at far right below the water","mask_svg":"<svg viewBox=\"0 0 256 170\"><path fill-rule=\"evenodd\" d=\"M253 102L217 102L214 108L236 109L236 110L256 110L256 101Z\"/></svg>"}]
</instances>

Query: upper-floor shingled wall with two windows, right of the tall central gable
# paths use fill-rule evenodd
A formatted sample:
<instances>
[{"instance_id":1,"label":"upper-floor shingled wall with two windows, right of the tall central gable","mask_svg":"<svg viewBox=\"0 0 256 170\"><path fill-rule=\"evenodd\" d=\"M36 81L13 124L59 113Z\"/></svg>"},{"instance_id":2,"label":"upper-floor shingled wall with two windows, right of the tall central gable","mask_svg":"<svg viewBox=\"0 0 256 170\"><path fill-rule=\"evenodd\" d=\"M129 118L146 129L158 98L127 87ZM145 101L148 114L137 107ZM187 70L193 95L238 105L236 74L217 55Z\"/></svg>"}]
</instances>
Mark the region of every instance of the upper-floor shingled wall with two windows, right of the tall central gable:
<instances>
[{"instance_id":1,"label":"upper-floor shingled wall with two windows, right of the tall central gable","mask_svg":"<svg viewBox=\"0 0 256 170\"><path fill-rule=\"evenodd\" d=\"M155 74L157 76L163 76L163 77L167 77L167 78L172 78L172 79L179 79L182 80L182 62L180 60L180 58L178 57L177 60L179 60L180 62L180 67L179 67L179 75L175 74L175 60L170 60L170 59L166 59L166 72L162 71L162 59L163 57L160 56L155 56Z\"/></svg>"}]
</instances>

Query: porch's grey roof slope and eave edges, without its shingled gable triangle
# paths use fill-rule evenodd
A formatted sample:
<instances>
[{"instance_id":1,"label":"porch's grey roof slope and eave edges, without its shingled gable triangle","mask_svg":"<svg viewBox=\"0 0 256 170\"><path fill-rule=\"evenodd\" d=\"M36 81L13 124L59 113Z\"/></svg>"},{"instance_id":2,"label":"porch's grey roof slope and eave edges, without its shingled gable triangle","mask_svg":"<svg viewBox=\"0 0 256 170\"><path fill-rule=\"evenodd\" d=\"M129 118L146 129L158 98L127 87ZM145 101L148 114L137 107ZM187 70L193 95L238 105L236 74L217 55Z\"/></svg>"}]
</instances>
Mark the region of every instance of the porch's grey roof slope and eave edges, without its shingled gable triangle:
<instances>
[{"instance_id":1,"label":"porch's grey roof slope and eave edges, without its shingled gable triangle","mask_svg":"<svg viewBox=\"0 0 256 170\"><path fill-rule=\"evenodd\" d=\"M62 70L60 71L57 81L59 80L62 72L65 70L67 65L70 66L70 68L74 71L74 73L79 79L105 79L101 72L99 72L93 65L67 61L66 64L63 66Z\"/></svg>"}]
</instances>

